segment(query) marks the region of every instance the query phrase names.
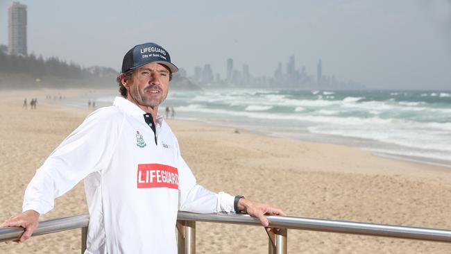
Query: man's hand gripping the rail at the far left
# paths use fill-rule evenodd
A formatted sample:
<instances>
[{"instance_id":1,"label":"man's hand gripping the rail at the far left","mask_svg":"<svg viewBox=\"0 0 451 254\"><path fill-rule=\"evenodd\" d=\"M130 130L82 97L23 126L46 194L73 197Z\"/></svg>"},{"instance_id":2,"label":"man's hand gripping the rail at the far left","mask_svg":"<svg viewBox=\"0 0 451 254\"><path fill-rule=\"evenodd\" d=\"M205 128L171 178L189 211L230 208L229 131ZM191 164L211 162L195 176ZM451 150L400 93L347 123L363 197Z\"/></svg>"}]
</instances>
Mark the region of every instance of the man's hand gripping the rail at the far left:
<instances>
[{"instance_id":1,"label":"man's hand gripping the rail at the far left","mask_svg":"<svg viewBox=\"0 0 451 254\"><path fill-rule=\"evenodd\" d=\"M0 228L3 227L22 227L25 228L25 232L22 236L14 240L14 242L24 242L26 239L30 238L33 232L37 227L37 223L39 223L40 214L35 210L27 210L20 214L16 214L12 216L10 219L7 219L5 222L0 224Z\"/></svg>"}]
</instances>

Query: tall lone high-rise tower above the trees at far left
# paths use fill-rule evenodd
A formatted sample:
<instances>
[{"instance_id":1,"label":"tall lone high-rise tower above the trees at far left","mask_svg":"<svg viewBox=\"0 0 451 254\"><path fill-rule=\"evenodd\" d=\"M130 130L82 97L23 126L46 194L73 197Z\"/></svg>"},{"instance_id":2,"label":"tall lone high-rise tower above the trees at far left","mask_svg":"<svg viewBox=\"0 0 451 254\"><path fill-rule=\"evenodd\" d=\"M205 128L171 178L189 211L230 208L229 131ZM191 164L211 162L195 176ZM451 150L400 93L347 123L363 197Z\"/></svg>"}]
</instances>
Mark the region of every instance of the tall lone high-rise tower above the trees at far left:
<instances>
[{"instance_id":1,"label":"tall lone high-rise tower above the trees at far left","mask_svg":"<svg viewBox=\"0 0 451 254\"><path fill-rule=\"evenodd\" d=\"M8 53L26 56L26 5L12 2L8 8Z\"/></svg>"}]
</instances>

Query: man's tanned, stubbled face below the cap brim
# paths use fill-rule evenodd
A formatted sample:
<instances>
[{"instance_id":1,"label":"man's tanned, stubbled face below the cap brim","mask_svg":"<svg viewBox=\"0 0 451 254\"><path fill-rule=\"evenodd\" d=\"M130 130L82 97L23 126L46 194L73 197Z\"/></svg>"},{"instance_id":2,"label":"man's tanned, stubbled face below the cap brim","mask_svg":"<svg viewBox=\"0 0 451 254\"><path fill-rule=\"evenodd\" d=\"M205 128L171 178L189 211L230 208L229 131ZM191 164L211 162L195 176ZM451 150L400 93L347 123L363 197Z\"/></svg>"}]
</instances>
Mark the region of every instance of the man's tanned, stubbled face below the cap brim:
<instances>
[{"instance_id":1,"label":"man's tanned, stubbled face below the cap brim","mask_svg":"<svg viewBox=\"0 0 451 254\"><path fill-rule=\"evenodd\" d=\"M144 107L158 107L168 93L169 69L156 62L143 65L133 72L125 87L128 100Z\"/></svg>"}]
</instances>

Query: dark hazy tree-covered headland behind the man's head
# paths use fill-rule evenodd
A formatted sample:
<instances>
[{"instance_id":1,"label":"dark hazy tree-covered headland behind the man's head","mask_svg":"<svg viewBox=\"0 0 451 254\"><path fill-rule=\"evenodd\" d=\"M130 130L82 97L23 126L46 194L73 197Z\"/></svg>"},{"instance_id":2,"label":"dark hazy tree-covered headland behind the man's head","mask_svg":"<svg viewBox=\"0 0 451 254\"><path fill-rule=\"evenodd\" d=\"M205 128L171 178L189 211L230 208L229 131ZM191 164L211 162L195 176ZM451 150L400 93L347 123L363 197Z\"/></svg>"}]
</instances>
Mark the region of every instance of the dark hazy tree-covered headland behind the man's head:
<instances>
[{"instance_id":1,"label":"dark hazy tree-covered headland behind the man's head","mask_svg":"<svg viewBox=\"0 0 451 254\"><path fill-rule=\"evenodd\" d=\"M56 57L44 60L42 56L10 56L0 50L0 89L29 88L112 88L117 87L118 71L93 66L82 68ZM200 90L187 78L173 75L172 89Z\"/></svg>"}]
</instances>

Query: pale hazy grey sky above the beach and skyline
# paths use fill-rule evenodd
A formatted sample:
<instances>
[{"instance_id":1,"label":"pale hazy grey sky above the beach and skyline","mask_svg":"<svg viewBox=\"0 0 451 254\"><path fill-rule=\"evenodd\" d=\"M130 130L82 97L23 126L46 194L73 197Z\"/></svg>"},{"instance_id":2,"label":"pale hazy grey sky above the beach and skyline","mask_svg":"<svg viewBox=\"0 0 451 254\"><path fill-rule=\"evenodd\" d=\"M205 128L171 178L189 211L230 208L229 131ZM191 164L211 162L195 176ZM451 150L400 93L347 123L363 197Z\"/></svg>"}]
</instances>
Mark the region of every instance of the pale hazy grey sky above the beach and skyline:
<instances>
[{"instance_id":1,"label":"pale hazy grey sky above the beach and skyline","mask_svg":"<svg viewBox=\"0 0 451 254\"><path fill-rule=\"evenodd\" d=\"M316 74L373 88L451 89L451 0L60 1L28 6L28 52L83 67L119 70L135 44L157 42L191 75L226 59L254 76L273 76L296 57ZM0 0L0 44L8 44L8 6ZM285 70L285 66L284 66Z\"/></svg>"}]
</instances>

